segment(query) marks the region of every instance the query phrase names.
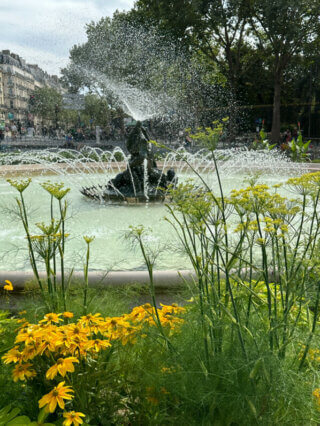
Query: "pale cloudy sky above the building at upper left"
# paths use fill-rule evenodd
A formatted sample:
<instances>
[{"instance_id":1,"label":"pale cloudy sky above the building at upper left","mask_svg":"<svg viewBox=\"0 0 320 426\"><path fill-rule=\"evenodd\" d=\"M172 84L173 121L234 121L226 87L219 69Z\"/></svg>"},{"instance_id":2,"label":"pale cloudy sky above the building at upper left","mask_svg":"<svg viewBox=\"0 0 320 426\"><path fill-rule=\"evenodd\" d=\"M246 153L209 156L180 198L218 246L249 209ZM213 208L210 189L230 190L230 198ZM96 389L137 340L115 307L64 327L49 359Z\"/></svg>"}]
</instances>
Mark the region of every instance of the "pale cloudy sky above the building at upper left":
<instances>
[{"instance_id":1,"label":"pale cloudy sky above the building at upper left","mask_svg":"<svg viewBox=\"0 0 320 426\"><path fill-rule=\"evenodd\" d=\"M59 75L69 50L86 40L85 24L134 0L0 0L0 50L9 49L49 74Z\"/></svg>"}]
</instances>

